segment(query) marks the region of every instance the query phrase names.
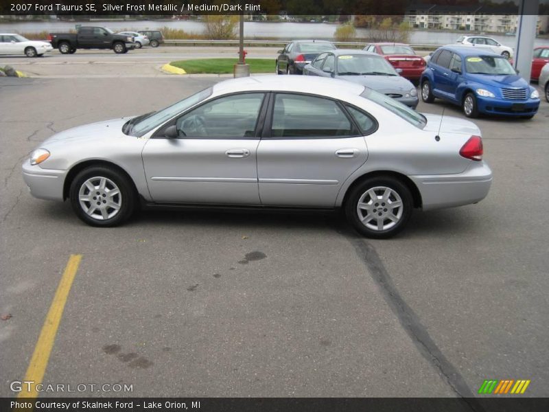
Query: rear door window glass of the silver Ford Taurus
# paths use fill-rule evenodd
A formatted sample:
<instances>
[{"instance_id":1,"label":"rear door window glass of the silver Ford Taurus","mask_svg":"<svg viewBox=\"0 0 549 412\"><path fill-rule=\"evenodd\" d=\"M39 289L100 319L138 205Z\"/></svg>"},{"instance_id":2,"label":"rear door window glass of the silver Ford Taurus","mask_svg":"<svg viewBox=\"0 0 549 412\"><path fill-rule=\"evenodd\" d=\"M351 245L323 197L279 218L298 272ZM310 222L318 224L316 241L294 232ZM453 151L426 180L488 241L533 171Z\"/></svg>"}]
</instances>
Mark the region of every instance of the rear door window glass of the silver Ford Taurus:
<instances>
[{"instance_id":1,"label":"rear door window glass of the silver Ford Taurus","mask_svg":"<svg viewBox=\"0 0 549 412\"><path fill-rule=\"evenodd\" d=\"M344 137L353 124L334 100L309 95L277 94L272 111L272 137Z\"/></svg>"}]
</instances>

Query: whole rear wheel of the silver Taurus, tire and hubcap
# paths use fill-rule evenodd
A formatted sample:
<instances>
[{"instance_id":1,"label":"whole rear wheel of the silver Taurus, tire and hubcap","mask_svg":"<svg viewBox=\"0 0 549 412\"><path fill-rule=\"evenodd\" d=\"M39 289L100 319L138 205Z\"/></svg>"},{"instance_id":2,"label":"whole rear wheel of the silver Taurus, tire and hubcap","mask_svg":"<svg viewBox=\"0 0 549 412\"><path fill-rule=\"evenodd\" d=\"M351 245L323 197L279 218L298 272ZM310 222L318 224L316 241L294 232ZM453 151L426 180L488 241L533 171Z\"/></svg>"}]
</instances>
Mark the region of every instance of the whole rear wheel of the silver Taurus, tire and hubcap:
<instances>
[{"instance_id":1,"label":"whole rear wheel of the silver Taurus, tire and hubcap","mask_svg":"<svg viewBox=\"0 0 549 412\"><path fill-rule=\"evenodd\" d=\"M387 193L388 198L384 198ZM359 203L364 207L359 208ZM391 204L395 206L391 208ZM358 183L344 205L345 215L353 228L373 239L391 238L404 229L412 215L412 207L412 194L408 187L390 176L372 177Z\"/></svg>"}]
</instances>

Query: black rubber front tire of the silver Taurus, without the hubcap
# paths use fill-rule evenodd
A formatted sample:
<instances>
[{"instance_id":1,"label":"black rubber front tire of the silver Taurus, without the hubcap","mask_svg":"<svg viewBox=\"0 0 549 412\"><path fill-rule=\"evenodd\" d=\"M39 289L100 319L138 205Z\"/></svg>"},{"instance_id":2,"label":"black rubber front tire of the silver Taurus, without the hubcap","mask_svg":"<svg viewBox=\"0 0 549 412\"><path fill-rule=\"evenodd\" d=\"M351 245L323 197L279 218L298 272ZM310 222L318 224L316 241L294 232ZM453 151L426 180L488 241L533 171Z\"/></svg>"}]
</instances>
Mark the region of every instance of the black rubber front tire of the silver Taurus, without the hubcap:
<instances>
[{"instance_id":1,"label":"black rubber front tire of the silver Taurus, without the hubcap","mask_svg":"<svg viewBox=\"0 0 549 412\"><path fill-rule=\"evenodd\" d=\"M119 212L115 216L113 216L113 218L107 220L97 220L91 218L80 206L80 201L78 199L80 187L82 187L86 180L92 177L106 177L118 186L121 193L122 205ZM130 216L133 214L136 202L135 192L131 183L128 181L128 178L117 170L103 166L93 166L79 172L71 182L71 186L69 189L69 198L71 200L71 206L76 216L78 216L80 220L87 223L88 225L97 227L113 227L121 225L121 223L128 220L128 218L130 218Z\"/></svg>"}]
</instances>

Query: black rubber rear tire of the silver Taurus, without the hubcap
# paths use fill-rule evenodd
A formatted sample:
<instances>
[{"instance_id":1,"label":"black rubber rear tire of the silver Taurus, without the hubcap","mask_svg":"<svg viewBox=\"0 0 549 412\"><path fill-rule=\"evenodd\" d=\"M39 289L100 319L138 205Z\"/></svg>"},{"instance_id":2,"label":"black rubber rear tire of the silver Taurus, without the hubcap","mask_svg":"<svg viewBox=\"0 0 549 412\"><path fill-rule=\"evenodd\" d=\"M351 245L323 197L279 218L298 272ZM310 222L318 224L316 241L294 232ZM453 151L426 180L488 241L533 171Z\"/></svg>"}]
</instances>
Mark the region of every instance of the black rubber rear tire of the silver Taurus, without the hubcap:
<instances>
[{"instance_id":1,"label":"black rubber rear tire of the silver Taurus, without the hubcap","mask_svg":"<svg viewBox=\"0 0 549 412\"><path fill-rule=\"evenodd\" d=\"M389 187L391 190L397 192L402 199L402 204L404 207L399 222L397 222L395 226L384 231L375 231L364 226L360 221L356 210L360 197L372 187L378 186ZM347 221L356 231L358 231L358 233L362 234L362 236L373 239L386 239L395 236L402 229L404 229L404 227L406 227L410 216L412 216L413 204L412 194L404 183L390 176L379 176L365 179L364 181L358 183L358 185L355 185L349 193L347 201L344 205L344 210L345 215L347 216Z\"/></svg>"}]
</instances>

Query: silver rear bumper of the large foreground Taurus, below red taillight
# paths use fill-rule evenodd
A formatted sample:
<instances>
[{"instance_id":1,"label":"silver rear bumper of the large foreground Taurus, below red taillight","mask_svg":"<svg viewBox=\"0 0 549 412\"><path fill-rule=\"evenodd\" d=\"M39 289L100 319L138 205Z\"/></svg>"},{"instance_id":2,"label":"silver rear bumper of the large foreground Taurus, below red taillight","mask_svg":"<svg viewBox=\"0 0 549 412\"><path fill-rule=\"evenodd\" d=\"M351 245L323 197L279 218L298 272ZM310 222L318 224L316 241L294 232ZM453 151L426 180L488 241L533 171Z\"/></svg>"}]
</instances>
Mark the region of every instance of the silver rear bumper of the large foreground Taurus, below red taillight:
<instances>
[{"instance_id":1,"label":"silver rear bumper of the large foreground Taurus, below red taillight","mask_svg":"<svg viewBox=\"0 0 549 412\"><path fill-rule=\"evenodd\" d=\"M463 173L410 176L421 194L423 210L477 203L492 184L492 171L484 161L471 161Z\"/></svg>"}]
</instances>

